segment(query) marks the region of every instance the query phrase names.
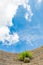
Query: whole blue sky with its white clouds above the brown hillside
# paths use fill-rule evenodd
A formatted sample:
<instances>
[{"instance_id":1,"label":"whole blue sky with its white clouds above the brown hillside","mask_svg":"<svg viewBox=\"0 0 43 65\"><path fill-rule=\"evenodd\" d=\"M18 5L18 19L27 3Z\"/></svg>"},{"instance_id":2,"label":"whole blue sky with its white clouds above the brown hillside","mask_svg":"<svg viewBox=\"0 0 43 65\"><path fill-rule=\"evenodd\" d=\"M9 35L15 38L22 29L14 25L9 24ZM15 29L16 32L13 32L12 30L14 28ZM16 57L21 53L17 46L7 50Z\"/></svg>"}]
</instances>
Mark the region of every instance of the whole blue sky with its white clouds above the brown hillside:
<instances>
[{"instance_id":1,"label":"whole blue sky with its white clouds above the brown hillside","mask_svg":"<svg viewBox=\"0 0 43 65\"><path fill-rule=\"evenodd\" d=\"M43 46L43 0L0 0L0 50L19 53Z\"/></svg>"}]
</instances>

